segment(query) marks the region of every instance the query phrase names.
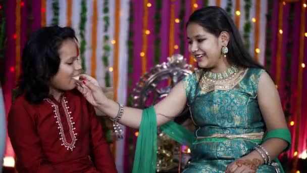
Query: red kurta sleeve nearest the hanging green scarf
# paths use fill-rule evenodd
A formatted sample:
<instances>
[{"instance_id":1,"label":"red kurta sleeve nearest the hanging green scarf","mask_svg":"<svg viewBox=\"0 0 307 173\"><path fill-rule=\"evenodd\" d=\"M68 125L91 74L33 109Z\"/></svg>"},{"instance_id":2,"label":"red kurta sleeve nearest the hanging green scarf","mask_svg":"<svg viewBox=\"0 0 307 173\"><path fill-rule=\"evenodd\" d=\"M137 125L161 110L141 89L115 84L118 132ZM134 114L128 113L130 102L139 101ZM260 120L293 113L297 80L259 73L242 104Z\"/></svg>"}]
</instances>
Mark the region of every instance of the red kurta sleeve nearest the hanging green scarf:
<instances>
[{"instance_id":1,"label":"red kurta sleeve nearest the hanging green scarf","mask_svg":"<svg viewBox=\"0 0 307 173\"><path fill-rule=\"evenodd\" d=\"M88 104L90 117L90 150L96 169L100 172L117 172L110 145L107 142L101 124L98 121L94 107Z\"/></svg>"}]
</instances>

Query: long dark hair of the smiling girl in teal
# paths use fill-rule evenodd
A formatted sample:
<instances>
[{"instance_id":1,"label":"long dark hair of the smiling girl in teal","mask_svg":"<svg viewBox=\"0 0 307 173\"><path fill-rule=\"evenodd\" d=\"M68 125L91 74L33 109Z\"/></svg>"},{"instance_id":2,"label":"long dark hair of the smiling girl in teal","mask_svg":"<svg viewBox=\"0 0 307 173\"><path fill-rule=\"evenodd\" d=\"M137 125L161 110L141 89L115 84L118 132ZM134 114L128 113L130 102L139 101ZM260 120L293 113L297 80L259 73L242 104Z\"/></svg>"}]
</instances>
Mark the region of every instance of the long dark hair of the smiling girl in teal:
<instances>
[{"instance_id":1,"label":"long dark hair of the smiling girl in teal","mask_svg":"<svg viewBox=\"0 0 307 173\"><path fill-rule=\"evenodd\" d=\"M265 69L249 55L243 45L242 38L233 20L222 8L210 6L198 9L191 14L186 26L190 23L196 23L202 26L204 30L214 34L216 37L218 37L222 31L229 33L227 60L230 64L235 64L243 68ZM202 70L198 79L193 101L196 98L199 82L204 75L204 72L206 72L206 70Z\"/></svg>"}]
</instances>

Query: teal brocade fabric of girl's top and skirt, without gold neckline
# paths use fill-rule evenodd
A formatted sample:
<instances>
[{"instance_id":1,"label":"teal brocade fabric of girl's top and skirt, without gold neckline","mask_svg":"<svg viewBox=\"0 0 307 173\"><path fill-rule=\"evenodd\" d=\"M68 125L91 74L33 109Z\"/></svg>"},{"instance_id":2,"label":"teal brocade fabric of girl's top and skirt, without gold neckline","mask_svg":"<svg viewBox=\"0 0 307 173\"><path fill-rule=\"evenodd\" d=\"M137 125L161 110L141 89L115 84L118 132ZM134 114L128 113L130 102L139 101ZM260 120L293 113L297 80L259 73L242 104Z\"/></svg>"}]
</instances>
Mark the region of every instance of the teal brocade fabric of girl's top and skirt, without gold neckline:
<instances>
[{"instance_id":1,"label":"teal brocade fabric of girl's top and skirt, without gold neckline","mask_svg":"<svg viewBox=\"0 0 307 173\"><path fill-rule=\"evenodd\" d=\"M247 69L244 77L233 88L206 92L199 87L194 71L183 79L192 120L196 124L196 137L214 134L265 133L266 127L258 100L258 82L263 69ZM195 99L194 99L195 97ZM190 172L224 172L234 160L253 151L261 141L245 139L203 141L196 140L191 149L191 162L184 169ZM275 172L270 165L262 165L257 172Z\"/></svg>"}]
</instances>

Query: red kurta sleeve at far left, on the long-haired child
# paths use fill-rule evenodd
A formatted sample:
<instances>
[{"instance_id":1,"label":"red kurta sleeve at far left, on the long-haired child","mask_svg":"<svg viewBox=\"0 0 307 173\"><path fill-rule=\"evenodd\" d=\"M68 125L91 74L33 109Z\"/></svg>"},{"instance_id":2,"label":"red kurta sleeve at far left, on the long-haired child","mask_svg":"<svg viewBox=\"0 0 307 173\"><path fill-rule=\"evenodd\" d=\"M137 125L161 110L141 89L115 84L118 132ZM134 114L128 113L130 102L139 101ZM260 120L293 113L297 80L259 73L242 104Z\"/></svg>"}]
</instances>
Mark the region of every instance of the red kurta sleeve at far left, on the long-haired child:
<instances>
[{"instance_id":1,"label":"red kurta sleeve at far left, on the long-haired child","mask_svg":"<svg viewBox=\"0 0 307 173\"><path fill-rule=\"evenodd\" d=\"M19 172L59 172L44 155L31 115L19 102L13 104L8 118L8 134L17 157Z\"/></svg>"}]
</instances>

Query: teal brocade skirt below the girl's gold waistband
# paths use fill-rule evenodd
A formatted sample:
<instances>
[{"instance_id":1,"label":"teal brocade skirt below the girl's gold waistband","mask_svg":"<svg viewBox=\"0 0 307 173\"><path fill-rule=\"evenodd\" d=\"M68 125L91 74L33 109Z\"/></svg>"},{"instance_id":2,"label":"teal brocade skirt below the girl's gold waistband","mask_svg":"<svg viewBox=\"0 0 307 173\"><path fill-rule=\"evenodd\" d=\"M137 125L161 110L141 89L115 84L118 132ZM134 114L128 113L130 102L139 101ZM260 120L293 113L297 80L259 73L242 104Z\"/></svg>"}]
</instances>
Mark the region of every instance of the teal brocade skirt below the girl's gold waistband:
<instances>
[{"instance_id":1,"label":"teal brocade skirt below the girl's gold waistband","mask_svg":"<svg viewBox=\"0 0 307 173\"><path fill-rule=\"evenodd\" d=\"M260 140L222 138L196 140L191 147L191 162L187 164L183 173L225 172L227 165L253 151L260 142ZM276 172L276 170L275 167L264 164L257 172Z\"/></svg>"}]
</instances>

